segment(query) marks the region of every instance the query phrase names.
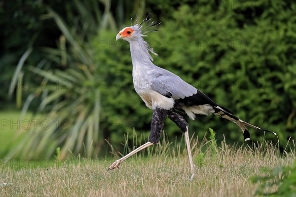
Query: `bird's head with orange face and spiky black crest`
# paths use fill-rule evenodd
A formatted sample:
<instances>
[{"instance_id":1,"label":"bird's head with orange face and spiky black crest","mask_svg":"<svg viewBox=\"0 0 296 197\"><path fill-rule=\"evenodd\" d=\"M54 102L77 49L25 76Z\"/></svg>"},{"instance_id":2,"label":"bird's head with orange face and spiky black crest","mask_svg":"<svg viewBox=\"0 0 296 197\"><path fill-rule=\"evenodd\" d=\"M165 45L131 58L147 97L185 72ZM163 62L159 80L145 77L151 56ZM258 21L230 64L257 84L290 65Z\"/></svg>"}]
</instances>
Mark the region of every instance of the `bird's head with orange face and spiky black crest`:
<instances>
[{"instance_id":1,"label":"bird's head with orange face and spiky black crest","mask_svg":"<svg viewBox=\"0 0 296 197\"><path fill-rule=\"evenodd\" d=\"M150 14L148 14L148 16L140 23L138 24L138 16L136 17L136 24L132 25L130 27L125 27L123 28L117 35L116 35L116 40L118 39L124 39L127 41L136 41L139 40L142 37L146 37L146 33L148 32L156 32L158 30L148 30L146 32L143 33L143 31L147 30L150 27L153 27L155 25L159 25L159 23L157 22L152 22L151 24L149 24L147 27L145 27L144 29L142 29L147 23L149 23L151 21L151 18L148 19ZM132 24L132 18L131 18L131 24Z\"/></svg>"}]
</instances>

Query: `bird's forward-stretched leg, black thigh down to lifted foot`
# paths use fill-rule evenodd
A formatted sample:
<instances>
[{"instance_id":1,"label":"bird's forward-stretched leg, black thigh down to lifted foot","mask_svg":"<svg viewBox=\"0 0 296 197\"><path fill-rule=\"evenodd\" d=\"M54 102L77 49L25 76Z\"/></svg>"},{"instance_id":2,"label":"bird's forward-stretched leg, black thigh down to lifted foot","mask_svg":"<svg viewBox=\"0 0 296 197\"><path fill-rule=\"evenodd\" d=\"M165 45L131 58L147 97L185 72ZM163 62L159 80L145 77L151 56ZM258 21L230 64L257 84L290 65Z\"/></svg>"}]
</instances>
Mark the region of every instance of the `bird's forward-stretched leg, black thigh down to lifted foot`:
<instances>
[{"instance_id":1,"label":"bird's forward-stretched leg, black thigh down to lifted foot","mask_svg":"<svg viewBox=\"0 0 296 197\"><path fill-rule=\"evenodd\" d=\"M115 169L115 168L119 168L118 166L121 163L121 161L131 157L132 155L138 153L139 151L141 151L153 144L157 144L159 142L159 138L161 135L161 130L163 127L163 122L164 122L165 117L166 117L166 110L162 110L159 108L156 108L155 110L153 110L151 130L150 130L148 142L143 144L142 146L138 147L134 151L130 152L126 156L116 160L114 163L111 164L111 166L108 168L107 171Z\"/></svg>"}]
</instances>

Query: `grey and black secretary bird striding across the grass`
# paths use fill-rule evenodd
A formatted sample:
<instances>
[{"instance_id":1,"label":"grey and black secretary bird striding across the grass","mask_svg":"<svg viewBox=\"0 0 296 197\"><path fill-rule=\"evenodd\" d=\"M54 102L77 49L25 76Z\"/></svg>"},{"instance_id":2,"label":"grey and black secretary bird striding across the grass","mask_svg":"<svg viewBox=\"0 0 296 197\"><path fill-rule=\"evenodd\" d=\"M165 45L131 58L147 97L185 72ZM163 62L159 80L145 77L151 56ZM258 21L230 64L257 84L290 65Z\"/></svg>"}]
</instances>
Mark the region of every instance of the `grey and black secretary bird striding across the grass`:
<instances>
[{"instance_id":1,"label":"grey and black secretary bird striding across the grass","mask_svg":"<svg viewBox=\"0 0 296 197\"><path fill-rule=\"evenodd\" d=\"M116 40L124 39L130 43L130 51L133 64L133 82L134 88L146 106L153 110L151 130L148 142L139 148L135 149L126 156L116 160L108 168L109 170L119 168L119 164L126 158L131 157L137 152L159 142L161 131L166 117L173 120L185 134L185 143L188 151L191 180L194 176L194 166L191 156L191 149L188 136L188 123L185 118L178 114L174 109L184 111L191 120L195 119L195 114L200 115L218 115L222 118L236 123L243 131L245 141L250 140L250 133L245 126L253 127L261 131L267 131L276 135L276 133L261 129L248 122L245 122L236 116L232 115L229 110L217 105L212 99L207 97L201 91L197 90L192 85L186 83L179 76L155 66L150 53L153 48L143 39L146 33L158 30L147 30L150 27L159 25L160 22L152 22L146 28L144 27L151 21L149 15L138 24L123 28L116 36ZM143 33L143 31L147 30Z\"/></svg>"}]
</instances>

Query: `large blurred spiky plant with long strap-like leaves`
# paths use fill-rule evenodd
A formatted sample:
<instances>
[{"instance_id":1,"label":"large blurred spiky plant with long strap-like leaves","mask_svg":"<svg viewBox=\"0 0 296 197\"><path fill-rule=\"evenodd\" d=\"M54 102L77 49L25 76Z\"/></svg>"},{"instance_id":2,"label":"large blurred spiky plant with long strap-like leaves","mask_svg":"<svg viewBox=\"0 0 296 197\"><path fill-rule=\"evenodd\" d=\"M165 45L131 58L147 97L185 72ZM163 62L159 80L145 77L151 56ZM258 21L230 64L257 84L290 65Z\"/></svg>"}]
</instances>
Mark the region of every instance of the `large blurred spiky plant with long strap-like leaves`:
<instances>
[{"instance_id":1,"label":"large blurred spiky plant with long strap-like leaves","mask_svg":"<svg viewBox=\"0 0 296 197\"><path fill-rule=\"evenodd\" d=\"M84 13L83 17L89 19L91 15L85 15L83 4L77 0L75 2L79 12ZM57 64L66 69L52 71L31 68L31 71L43 78L43 83L34 95L27 98L23 113L34 98L42 95L39 112L33 118L35 120L31 128L18 135L20 139L16 140L15 146L11 146L13 148L7 158L48 158L54 154L57 147L61 147L61 158L71 153L86 157L96 156L102 141L99 129L100 92L95 87L92 74L95 66L91 61L90 50L84 42L87 30L77 33L74 31L76 27L69 28L50 8L44 18L48 17L55 20L63 35L57 49L41 49L44 51L44 59L49 65ZM95 19L88 21L92 25L95 23ZM93 34L94 29L91 32Z\"/></svg>"}]
</instances>

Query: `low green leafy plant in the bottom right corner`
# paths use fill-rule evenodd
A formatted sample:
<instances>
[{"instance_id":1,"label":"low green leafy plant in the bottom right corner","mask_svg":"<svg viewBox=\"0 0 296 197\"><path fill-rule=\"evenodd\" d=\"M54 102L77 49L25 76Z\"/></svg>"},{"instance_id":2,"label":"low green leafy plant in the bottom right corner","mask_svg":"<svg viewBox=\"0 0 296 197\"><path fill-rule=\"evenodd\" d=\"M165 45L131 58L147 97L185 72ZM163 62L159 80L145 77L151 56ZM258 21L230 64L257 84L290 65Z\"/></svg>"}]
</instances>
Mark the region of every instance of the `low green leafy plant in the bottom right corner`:
<instances>
[{"instance_id":1,"label":"low green leafy plant in the bottom right corner","mask_svg":"<svg viewBox=\"0 0 296 197\"><path fill-rule=\"evenodd\" d=\"M251 179L253 183L260 183L256 192L257 195L272 197L296 196L296 160L292 165L262 169L261 173L266 175L253 176ZM274 187L276 191L270 192Z\"/></svg>"}]
</instances>

